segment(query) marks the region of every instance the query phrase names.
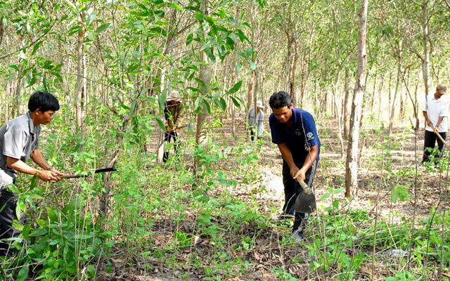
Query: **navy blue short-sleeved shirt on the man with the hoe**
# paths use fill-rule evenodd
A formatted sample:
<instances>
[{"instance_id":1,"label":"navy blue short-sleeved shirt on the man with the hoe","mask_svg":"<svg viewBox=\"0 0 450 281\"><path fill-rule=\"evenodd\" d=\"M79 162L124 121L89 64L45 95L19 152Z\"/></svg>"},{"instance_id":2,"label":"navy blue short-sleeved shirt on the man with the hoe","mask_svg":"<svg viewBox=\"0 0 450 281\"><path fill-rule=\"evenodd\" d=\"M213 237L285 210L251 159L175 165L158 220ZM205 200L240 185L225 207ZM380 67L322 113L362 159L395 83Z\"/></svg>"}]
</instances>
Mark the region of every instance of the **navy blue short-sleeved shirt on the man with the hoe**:
<instances>
[{"instance_id":1,"label":"navy blue short-sleeved shirt on the man with the hoe","mask_svg":"<svg viewBox=\"0 0 450 281\"><path fill-rule=\"evenodd\" d=\"M272 143L285 143L293 155L295 163L303 164L309 153L309 147L319 145L317 159L321 153L321 141L317 136L316 122L312 115L299 108L293 107L293 126L287 128L285 123L276 119L274 113L269 117Z\"/></svg>"}]
</instances>

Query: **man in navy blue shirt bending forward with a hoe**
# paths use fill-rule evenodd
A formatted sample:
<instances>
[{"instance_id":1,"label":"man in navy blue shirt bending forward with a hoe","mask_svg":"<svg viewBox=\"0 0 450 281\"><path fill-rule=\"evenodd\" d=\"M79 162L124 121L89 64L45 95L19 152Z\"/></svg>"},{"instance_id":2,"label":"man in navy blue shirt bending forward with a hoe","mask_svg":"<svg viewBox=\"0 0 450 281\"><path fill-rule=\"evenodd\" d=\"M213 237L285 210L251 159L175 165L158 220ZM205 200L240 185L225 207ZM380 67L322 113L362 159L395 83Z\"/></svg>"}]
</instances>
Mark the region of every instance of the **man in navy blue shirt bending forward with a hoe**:
<instances>
[{"instance_id":1,"label":"man in navy blue shirt bending forward with a hoe","mask_svg":"<svg viewBox=\"0 0 450 281\"><path fill-rule=\"evenodd\" d=\"M295 215L293 237L302 240L307 219L304 213L294 211L295 199L302 191L296 179L300 178L312 187L319 163L321 142L312 115L293 107L293 99L288 93L274 93L270 97L269 105L272 109L269 117L272 143L278 145L283 156L285 204L282 216Z\"/></svg>"}]
</instances>

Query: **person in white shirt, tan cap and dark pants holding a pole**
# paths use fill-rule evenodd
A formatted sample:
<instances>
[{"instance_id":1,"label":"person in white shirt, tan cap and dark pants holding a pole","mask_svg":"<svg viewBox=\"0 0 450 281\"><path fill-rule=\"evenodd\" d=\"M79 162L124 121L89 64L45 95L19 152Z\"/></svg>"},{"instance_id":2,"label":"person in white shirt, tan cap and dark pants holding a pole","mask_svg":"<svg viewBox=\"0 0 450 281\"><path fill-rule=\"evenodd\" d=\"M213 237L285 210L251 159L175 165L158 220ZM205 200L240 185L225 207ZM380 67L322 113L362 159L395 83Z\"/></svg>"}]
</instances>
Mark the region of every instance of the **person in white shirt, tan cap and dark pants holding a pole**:
<instances>
[{"instance_id":1,"label":"person in white shirt, tan cap and dark pants holding a pole","mask_svg":"<svg viewBox=\"0 0 450 281\"><path fill-rule=\"evenodd\" d=\"M447 136L448 126L447 117L449 116L449 101L446 94L447 86L439 84L436 87L436 92L430 94L425 98L425 105L423 105L423 117L425 117L425 140L423 144L423 162L430 161L430 154L435 148L439 148L439 157L442 157L444 152L444 143L437 138L436 134L442 136L445 140Z\"/></svg>"}]
</instances>

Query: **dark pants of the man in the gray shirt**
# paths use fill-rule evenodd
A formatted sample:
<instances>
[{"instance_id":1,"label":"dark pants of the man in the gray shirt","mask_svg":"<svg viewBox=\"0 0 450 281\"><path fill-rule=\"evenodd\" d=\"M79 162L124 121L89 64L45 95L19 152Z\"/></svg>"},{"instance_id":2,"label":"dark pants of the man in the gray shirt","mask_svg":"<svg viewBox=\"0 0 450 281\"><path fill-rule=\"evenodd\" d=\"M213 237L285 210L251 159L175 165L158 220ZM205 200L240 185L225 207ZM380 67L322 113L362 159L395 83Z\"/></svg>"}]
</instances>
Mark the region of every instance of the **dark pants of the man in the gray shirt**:
<instances>
[{"instance_id":1,"label":"dark pants of the man in the gray shirt","mask_svg":"<svg viewBox=\"0 0 450 281\"><path fill-rule=\"evenodd\" d=\"M11 237L18 237L21 231L13 228L13 221L17 220L15 216L15 207L17 205L17 193L9 192L6 188L0 190L0 256L11 252L10 242L1 240ZM24 214L20 217L20 223L25 222Z\"/></svg>"}]
</instances>

